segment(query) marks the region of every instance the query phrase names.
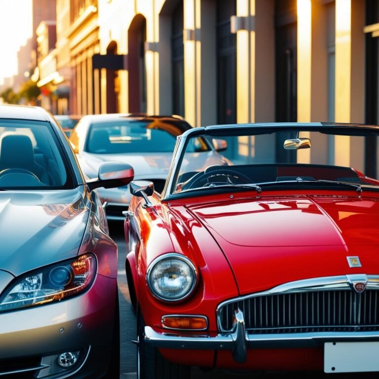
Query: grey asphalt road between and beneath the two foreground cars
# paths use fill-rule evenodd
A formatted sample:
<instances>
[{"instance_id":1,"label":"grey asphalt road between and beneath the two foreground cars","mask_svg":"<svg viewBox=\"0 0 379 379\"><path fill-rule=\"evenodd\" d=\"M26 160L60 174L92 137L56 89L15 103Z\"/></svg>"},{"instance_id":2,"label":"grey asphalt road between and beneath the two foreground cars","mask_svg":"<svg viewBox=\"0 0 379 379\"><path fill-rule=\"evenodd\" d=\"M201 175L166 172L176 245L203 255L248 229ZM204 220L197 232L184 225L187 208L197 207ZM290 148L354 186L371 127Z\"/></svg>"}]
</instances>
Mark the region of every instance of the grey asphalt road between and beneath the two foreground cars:
<instances>
[{"instance_id":1,"label":"grey asphalt road between and beneath the two foreground cars","mask_svg":"<svg viewBox=\"0 0 379 379\"><path fill-rule=\"evenodd\" d=\"M125 240L121 223L109 223L111 236L118 246L118 290L120 303L120 379L136 379L136 318L133 314L125 276ZM203 372L191 369L191 379L378 379L379 374L323 374L323 373L229 373L224 370Z\"/></svg>"}]
</instances>

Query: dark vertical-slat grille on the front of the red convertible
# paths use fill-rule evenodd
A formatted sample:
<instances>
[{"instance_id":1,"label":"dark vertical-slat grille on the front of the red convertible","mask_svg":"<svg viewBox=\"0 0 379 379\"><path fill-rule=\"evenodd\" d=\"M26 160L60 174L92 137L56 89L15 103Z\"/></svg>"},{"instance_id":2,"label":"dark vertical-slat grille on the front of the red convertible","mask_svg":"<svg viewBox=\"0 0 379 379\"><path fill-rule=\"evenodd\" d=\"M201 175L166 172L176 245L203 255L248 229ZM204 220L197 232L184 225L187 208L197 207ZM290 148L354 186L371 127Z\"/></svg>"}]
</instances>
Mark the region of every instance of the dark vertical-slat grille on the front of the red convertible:
<instances>
[{"instance_id":1,"label":"dark vertical-slat grille on the front of the red convertible","mask_svg":"<svg viewBox=\"0 0 379 379\"><path fill-rule=\"evenodd\" d=\"M239 308L254 333L304 333L379 330L379 289L350 288L263 294L228 302L218 309L219 328L232 328Z\"/></svg>"}]
</instances>

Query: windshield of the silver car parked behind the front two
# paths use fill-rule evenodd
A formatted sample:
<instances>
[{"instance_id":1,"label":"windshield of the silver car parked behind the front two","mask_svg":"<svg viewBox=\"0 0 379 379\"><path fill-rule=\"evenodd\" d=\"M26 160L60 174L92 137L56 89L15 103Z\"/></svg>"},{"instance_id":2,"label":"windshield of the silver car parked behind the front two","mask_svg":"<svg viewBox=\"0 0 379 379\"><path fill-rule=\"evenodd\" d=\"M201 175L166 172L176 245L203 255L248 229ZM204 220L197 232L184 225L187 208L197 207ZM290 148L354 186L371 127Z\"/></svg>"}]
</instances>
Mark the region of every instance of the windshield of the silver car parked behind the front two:
<instances>
[{"instance_id":1,"label":"windshield of the silver car parked behind the front two","mask_svg":"<svg viewBox=\"0 0 379 379\"><path fill-rule=\"evenodd\" d=\"M128 120L96 122L90 126L85 151L96 154L173 152L176 138L189 125L172 120ZM189 149L208 151L201 139L194 139Z\"/></svg>"}]
</instances>

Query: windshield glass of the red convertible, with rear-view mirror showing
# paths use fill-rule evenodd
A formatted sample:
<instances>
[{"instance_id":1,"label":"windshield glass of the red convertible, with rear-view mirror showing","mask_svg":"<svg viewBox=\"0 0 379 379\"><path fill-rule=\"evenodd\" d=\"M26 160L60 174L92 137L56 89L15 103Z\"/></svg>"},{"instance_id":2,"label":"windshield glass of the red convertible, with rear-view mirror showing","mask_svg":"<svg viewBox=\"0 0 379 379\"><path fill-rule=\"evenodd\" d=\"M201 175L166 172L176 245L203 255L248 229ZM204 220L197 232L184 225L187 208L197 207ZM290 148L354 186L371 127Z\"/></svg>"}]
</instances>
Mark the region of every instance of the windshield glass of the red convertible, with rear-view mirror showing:
<instances>
[{"instance_id":1,"label":"windshield glass of the red convertible, with rear-view mirror showing","mask_svg":"<svg viewBox=\"0 0 379 379\"><path fill-rule=\"evenodd\" d=\"M223 132L214 129L214 133L211 129L203 137L218 141L218 145L221 141L223 151L193 153L193 137L187 138L171 181L171 193L237 187L258 192L289 188L358 192L379 189L379 181L364 174L366 143L378 138L374 128L228 127Z\"/></svg>"}]
</instances>

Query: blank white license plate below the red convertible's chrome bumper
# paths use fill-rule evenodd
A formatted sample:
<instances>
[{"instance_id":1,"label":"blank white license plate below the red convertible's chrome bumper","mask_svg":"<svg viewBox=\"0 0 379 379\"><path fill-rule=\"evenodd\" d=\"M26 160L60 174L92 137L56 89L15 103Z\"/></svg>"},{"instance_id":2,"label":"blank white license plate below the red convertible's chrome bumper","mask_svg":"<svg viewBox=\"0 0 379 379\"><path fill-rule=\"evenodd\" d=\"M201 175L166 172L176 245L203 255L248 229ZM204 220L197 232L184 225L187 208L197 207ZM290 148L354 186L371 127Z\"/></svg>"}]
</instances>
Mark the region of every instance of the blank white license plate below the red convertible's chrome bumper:
<instances>
[{"instance_id":1,"label":"blank white license plate below the red convertible's chrome bumper","mask_svg":"<svg viewBox=\"0 0 379 379\"><path fill-rule=\"evenodd\" d=\"M379 342L326 342L326 373L379 371Z\"/></svg>"}]
</instances>

